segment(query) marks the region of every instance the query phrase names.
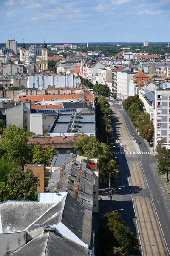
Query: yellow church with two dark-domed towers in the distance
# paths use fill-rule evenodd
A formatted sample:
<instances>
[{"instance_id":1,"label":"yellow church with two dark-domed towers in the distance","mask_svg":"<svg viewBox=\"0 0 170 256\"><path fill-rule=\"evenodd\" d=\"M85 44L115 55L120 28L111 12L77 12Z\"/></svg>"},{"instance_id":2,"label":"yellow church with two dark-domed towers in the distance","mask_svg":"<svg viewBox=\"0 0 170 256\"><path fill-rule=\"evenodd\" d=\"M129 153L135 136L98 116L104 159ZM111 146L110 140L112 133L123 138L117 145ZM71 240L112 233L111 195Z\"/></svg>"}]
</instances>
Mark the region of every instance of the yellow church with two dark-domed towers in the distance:
<instances>
[{"instance_id":1,"label":"yellow church with two dark-domed towers in the distance","mask_svg":"<svg viewBox=\"0 0 170 256\"><path fill-rule=\"evenodd\" d=\"M26 64L26 58L28 58L28 50L26 49L26 44L22 43L20 50L20 62ZM40 69L48 70L48 49L45 42L42 44L41 56L36 56L36 64Z\"/></svg>"}]
</instances>

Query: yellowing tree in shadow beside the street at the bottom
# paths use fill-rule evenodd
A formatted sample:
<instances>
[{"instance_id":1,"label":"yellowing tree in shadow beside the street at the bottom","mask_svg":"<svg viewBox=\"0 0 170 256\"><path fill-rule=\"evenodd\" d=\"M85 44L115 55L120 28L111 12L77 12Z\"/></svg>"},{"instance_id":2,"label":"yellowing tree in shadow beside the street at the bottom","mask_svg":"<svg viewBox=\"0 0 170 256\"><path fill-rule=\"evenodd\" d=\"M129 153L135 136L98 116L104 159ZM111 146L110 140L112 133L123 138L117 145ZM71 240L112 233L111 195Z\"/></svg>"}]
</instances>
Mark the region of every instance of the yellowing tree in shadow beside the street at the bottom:
<instances>
[{"instance_id":1,"label":"yellowing tree in shadow beside the street at the bottom","mask_svg":"<svg viewBox=\"0 0 170 256\"><path fill-rule=\"evenodd\" d=\"M108 219L107 225L109 230L113 232L115 239L122 247L125 255L133 256L139 253L138 239L133 235L129 227L122 221L118 212L107 212L105 217Z\"/></svg>"}]
</instances>

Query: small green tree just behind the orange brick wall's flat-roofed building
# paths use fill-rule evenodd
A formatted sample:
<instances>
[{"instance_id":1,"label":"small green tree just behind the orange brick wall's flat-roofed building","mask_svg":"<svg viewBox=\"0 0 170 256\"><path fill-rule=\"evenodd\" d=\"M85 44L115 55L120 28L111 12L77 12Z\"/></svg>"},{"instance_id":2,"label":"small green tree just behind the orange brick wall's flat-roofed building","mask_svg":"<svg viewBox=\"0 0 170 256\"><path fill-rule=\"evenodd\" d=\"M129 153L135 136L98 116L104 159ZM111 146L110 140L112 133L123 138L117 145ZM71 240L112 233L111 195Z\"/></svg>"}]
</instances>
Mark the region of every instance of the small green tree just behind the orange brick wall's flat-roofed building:
<instances>
[{"instance_id":1,"label":"small green tree just behind the orange brick wall's flat-roofed building","mask_svg":"<svg viewBox=\"0 0 170 256\"><path fill-rule=\"evenodd\" d=\"M32 163L49 165L51 158L56 154L55 148L48 146L46 150L41 145L34 145L32 148Z\"/></svg>"}]
</instances>

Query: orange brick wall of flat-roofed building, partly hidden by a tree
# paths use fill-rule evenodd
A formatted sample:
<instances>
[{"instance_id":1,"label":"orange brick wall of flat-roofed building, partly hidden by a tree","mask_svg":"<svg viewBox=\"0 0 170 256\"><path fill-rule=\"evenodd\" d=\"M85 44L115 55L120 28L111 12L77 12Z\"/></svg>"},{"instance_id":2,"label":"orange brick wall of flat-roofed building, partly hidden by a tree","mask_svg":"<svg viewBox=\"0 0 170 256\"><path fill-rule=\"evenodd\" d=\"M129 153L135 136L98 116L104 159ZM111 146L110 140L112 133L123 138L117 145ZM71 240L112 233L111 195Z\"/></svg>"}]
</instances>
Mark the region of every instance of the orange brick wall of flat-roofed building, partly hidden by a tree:
<instances>
[{"instance_id":1,"label":"orange brick wall of flat-roofed building, partly hidden by a tree","mask_svg":"<svg viewBox=\"0 0 170 256\"><path fill-rule=\"evenodd\" d=\"M24 166L24 172L26 172L27 168L31 168L33 170L34 176L38 176L40 179L40 186L37 187L37 192L43 193L45 192L45 169L44 165L26 165Z\"/></svg>"}]
</instances>

